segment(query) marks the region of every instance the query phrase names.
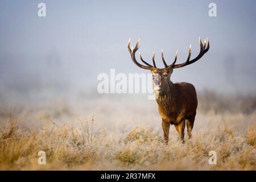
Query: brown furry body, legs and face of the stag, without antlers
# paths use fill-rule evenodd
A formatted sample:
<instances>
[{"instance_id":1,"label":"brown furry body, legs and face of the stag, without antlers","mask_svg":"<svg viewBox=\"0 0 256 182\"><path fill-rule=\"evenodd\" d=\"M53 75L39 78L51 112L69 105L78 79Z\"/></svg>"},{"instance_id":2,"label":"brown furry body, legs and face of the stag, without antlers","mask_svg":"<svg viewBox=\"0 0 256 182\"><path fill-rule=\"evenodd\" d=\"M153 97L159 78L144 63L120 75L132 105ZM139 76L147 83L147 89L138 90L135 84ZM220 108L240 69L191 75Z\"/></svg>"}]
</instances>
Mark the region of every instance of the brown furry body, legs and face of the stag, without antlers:
<instances>
[{"instance_id":1,"label":"brown furry body, legs and face of the stag, without antlers","mask_svg":"<svg viewBox=\"0 0 256 182\"><path fill-rule=\"evenodd\" d=\"M180 139L184 142L185 121L187 120L188 137L191 138L191 131L195 121L197 109L196 89L187 82L173 83L170 80L171 71L159 69L151 71L156 80L160 82L160 90L155 90L156 102L158 103L159 114L162 117L164 140L168 143L170 125L175 125Z\"/></svg>"}]
</instances>

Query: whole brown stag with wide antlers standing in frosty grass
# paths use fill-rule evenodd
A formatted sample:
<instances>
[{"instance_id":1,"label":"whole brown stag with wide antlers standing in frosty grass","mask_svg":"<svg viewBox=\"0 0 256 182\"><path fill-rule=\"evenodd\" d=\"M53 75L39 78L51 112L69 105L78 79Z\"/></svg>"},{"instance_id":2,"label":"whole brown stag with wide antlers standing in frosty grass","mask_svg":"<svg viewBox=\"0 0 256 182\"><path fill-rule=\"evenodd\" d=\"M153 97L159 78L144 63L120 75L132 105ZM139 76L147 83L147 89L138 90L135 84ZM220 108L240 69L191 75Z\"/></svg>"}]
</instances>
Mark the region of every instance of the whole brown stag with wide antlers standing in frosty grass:
<instances>
[{"instance_id":1,"label":"whole brown stag with wide antlers standing in frosty grass","mask_svg":"<svg viewBox=\"0 0 256 182\"><path fill-rule=\"evenodd\" d=\"M204 40L204 45L201 42L199 37L200 44L200 52L194 59L191 58L191 45L189 47L188 58L184 63L176 64L177 60L177 52L175 54L174 61L167 65L164 60L164 54L162 49L162 61L164 64L164 68L157 68L155 64L155 52L153 52L152 62L153 65L147 63L142 59L141 53L139 53L139 58L142 63L138 63L135 57L135 52L139 49L140 39L137 41L135 47L130 48L130 39L127 44L127 49L131 55L131 60L138 67L150 70L152 73L152 82L154 86L154 94L156 98L156 102L158 104L158 111L160 116L162 117L162 127L164 134L164 142L168 144L169 140L169 130L170 125L174 125L177 133L179 134L179 140L184 143L184 130L185 125L187 124L187 134L188 138L192 137L192 129L195 122L196 117L196 109L197 109L197 95L195 86L189 84L187 82L172 82L171 75L173 69L182 68L189 64L195 63L201 57L204 56L205 53L210 48L209 40Z\"/></svg>"}]
</instances>

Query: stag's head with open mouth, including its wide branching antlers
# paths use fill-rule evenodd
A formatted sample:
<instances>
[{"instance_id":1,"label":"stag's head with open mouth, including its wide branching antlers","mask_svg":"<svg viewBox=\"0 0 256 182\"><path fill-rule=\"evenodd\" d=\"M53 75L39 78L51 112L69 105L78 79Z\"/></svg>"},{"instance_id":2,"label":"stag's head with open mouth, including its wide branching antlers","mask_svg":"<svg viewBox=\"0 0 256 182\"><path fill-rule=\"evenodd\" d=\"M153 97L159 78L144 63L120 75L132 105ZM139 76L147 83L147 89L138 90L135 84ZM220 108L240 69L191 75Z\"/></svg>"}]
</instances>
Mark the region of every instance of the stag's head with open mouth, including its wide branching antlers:
<instances>
[{"instance_id":1,"label":"stag's head with open mouth, including its wide branching antlers","mask_svg":"<svg viewBox=\"0 0 256 182\"><path fill-rule=\"evenodd\" d=\"M164 68L157 68L156 64L155 64L155 53L154 52L153 52L153 56L152 56L153 65L148 64L146 61L144 61L142 59L141 53L139 53L139 58L141 59L142 63L144 63L145 65L138 63L138 61L136 60L135 52L138 51L138 49L139 49L139 40L137 41L134 48L133 47L130 48L130 39L129 39L128 44L127 44L127 49L130 52L131 59L138 67L143 68L143 69L148 69L151 71L153 83L154 83L154 91L158 92L158 93L164 92L164 90L169 88L169 85L171 83L171 74L172 74L173 69L185 67L189 64L195 63L209 50L208 38L207 38L207 40L204 40L204 45L203 45L201 42L201 39L199 37L200 52L199 52L199 55L195 57L195 59L190 60L190 57L191 57L191 45L190 45L188 58L184 63L176 64L177 52L178 52L177 51L176 55L175 55L175 59L172 62L172 64L167 65L166 61L164 60L163 49L162 49L162 60L163 60Z\"/></svg>"}]
</instances>

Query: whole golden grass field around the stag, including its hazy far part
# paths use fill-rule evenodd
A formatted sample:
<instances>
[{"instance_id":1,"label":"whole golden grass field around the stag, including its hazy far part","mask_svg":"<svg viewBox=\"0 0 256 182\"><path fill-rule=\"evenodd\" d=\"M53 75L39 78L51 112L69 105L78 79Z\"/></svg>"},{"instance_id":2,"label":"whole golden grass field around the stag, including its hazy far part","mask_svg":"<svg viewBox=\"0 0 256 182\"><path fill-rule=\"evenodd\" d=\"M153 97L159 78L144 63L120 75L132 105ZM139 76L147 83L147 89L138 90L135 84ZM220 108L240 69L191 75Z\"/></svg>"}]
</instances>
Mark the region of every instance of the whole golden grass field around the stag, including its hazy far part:
<instances>
[{"instance_id":1,"label":"whole golden grass field around the stag, including its hazy far part","mask_svg":"<svg viewBox=\"0 0 256 182\"><path fill-rule=\"evenodd\" d=\"M3 99L2 99L3 100ZM55 98L1 105L0 169L256 170L255 96L199 97L192 139L163 143L155 101ZM209 151L217 164L210 165ZM46 165L38 152L46 152Z\"/></svg>"}]
</instances>

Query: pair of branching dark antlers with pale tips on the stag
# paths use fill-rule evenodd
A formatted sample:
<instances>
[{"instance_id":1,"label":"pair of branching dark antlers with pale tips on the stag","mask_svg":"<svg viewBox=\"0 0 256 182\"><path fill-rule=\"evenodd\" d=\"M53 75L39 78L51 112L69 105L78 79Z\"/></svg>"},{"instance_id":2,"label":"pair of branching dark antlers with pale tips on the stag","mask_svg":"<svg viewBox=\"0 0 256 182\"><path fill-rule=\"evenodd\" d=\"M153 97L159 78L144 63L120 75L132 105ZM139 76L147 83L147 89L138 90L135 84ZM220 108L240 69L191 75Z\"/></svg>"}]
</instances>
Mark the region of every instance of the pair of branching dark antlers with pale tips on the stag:
<instances>
[{"instance_id":1,"label":"pair of branching dark antlers with pale tips on the stag","mask_svg":"<svg viewBox=\"0 0 256 182\"><path fill-rule=\"evenodd\" d=\"M139 39L140 40L140 39ZM156 65L155 65L155 53L153 52L153 57L152 57L152 61L153 61L153 65L152 66L151 64L148 64L146 61L144 61L142 59L142 56L141 56L141 53L139 53L139 58L141 59L141 61L146 64L147 66L145 65L142 65L142 64L139 64L138 61L136 60L135 58L135 52L138 51L139 49L139 40L137 41L136 43L136 46L135 48L133 49L133 47L130 48L130 39L128 41L128 44L127 44L127 48L128 48L128 51L130 52L130 55L131 55L131 59L133 60L133 62L138 65L138 67L140 68L143 68L143 69L154 69L156 68ZM181 68L181 67L185 67L186 65L189 65L189 64L192 64L192 63L195 63L197 60L199 60L201 57L203 57L203 55L209 50L210 48L210 44L209 44L209 40L207 38L207 41L204 40L204 46L201 42L201 39L199 37L199 44L200 44L200 52L199 52L199 55L195 57L195 59L192 59L190 60L190 57L191 57L191 45L189 47L189 53L188 53L188 58L187 60L182 63L182 64L175 64L176 61L177 61L177 52L175 54L175 60L174 62L171 64L171 65L167 65L166 64L166 61L164 60L164 55L163 55L163 49L162 49L162 60L163 60L163 64L164 64L164 67L165 69L174 69L174 68ZM156 68L156 69L159 69L159 68Z\"/></svg>"}]
</instances>

